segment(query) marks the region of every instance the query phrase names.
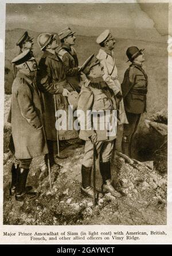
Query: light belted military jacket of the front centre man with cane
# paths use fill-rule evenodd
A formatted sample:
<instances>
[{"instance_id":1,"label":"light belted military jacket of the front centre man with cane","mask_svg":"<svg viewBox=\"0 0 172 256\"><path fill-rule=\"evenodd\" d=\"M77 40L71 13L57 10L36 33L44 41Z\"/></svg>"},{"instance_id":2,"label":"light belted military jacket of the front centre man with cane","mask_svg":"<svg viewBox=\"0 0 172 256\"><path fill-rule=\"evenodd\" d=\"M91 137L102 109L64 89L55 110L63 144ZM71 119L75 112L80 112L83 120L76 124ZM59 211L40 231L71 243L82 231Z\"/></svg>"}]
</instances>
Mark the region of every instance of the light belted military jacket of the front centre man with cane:
<instances>
[{"instance_id":1,"label":"light belted military jacket of the front centre man with cane","mask_svg":"<svg viewBox=\"0 0 172 256\"><path fill-rule=\"evenodd\" d=\"M112 127L111 129L108 129L108 126L105 125L105 117L97 118L97 129L94 129L93 118L87 112L87 110L96 110L96 112L101 111L102 114L105 114L105 110L110 110L109 120L112 122L112 110L115 110L115 98L113 91L110 91L108 86L106 87L106 90L101 90L96 87L92 87L92 83L87 81L81 88L77 110L83 110L84 112L84 114L78 113L80 124L83 122L82 124L84 125L83 128L80 129L79 133L79 137L82 140L89 140L89 137L92 136L94 132L97 134L97 142L116 139L117 129L115 129L114 133L111 133L110 135L109 132L112 131ZM107 90L108 93L106 92ZM100 125L102 125L101 128ZM116 123L114 122L114 125L117 126L117 119Z\"/></svg>"}]
</instances>

